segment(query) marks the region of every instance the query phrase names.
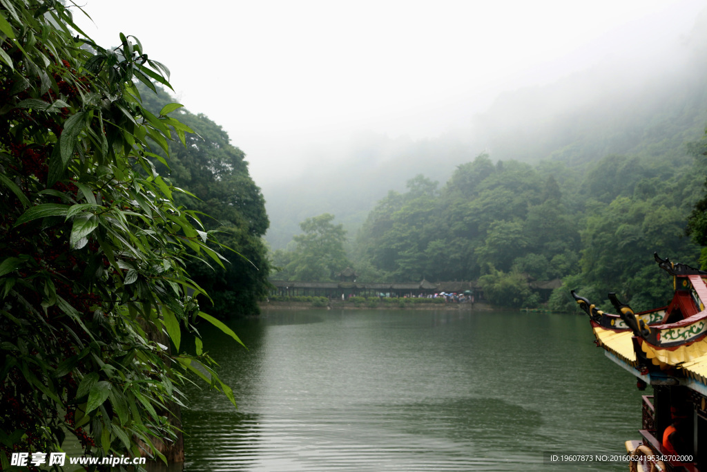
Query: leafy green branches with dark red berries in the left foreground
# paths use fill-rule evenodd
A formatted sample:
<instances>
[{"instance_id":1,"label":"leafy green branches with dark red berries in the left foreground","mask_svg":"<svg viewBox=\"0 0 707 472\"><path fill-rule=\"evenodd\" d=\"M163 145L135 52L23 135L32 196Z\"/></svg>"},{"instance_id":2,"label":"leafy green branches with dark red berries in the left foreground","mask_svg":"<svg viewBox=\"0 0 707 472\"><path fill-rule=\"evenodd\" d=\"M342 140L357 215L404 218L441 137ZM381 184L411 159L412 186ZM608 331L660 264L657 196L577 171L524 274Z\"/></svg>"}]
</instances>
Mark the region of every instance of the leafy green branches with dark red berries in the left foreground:
<instances>
[{"instance_id":1,"label":"leafy green branches with dark red berries in the left foreground","mask_svg":"<svg viewBox=\"0 0 707 472\"><path fill-rule=\"evenodd\" d=\"M3 470L13 451L60 451L66 432L87 456L139 456L139 441L160 456L151 437L174 437L160 410L185 401L187 371L233 401L198 337L182 354L199 320L238 338L187 297L202 293L187 258L221 257L147 159L148 137L167 152L190 131L169 116L181 105L150 113L133 83L169 86L168 70L136 38L105 50L81 35L58 2L1 2Z\"/></svg>"}]
</instances>

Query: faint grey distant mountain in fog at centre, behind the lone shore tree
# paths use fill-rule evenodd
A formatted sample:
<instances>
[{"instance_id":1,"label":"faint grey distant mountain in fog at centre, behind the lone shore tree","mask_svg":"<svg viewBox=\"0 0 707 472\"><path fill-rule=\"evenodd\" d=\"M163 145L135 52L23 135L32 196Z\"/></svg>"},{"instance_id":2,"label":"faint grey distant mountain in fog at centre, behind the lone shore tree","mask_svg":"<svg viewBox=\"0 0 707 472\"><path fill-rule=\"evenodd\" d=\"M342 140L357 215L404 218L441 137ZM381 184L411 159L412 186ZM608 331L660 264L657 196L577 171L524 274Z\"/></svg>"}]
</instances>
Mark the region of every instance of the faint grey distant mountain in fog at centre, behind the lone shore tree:
<instances>
[{"instance_id":1,"label":"faint grey distant mountain in fog at centre, behind the lone shore tree","mask_svg":"<svg viewBox=\"0 0 707 472\"><path fill-rule=\"evenodd\" d=\"M267 186L267 212L274 224L267 241L274 249L284 248L298 233L300 221L322 213L337 216L349 234L356 230L376 200L388 189L403 190L405 182L425 172L443 179L457 163L474 156L464 139L413 141L385 135L359 134L346 146L317 154L317 166L307 168L302 177Z\"/></svg>"}]
</instances>

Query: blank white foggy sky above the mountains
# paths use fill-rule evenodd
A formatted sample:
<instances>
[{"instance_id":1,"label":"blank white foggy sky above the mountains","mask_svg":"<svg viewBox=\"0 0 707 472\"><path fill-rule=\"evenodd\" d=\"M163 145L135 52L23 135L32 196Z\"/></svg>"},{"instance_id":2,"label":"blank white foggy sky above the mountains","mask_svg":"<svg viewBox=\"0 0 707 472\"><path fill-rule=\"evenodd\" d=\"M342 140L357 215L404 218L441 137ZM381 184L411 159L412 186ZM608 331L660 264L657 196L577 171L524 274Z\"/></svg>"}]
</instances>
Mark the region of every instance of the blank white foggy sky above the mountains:
<instances>
[{"instance_id":1,"label":"blank white foggy sky above the mountains","mask_svg":"<svg viewBox=\"0 0 707 472\"><path fill-rule=\"evenodd\" d=\"M83 5L83 4L82 4ZM119 5L119 6L118 6ZM177 100L247 154L267 195L351 159L361 132L471 137L499 93L626 57L650 62L689 33L704 0L86 0L76 23L100 45L135 35L165 63ZM326 152L322 150L326 149ZM329 163L330 164L330 163Z\"/></svg>"}]
</instances>

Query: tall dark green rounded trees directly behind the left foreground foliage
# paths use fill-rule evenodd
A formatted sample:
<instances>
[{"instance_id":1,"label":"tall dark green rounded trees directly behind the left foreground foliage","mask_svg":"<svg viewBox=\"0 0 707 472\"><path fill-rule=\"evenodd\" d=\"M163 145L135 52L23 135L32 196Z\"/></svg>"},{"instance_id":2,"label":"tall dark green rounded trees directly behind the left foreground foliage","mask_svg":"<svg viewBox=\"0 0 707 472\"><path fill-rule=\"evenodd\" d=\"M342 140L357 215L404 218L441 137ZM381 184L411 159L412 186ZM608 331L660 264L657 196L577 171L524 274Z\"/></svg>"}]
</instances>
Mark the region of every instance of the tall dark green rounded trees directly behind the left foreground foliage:
<instances>
[{"instance_id":1,"label":"tall dark green rounded trees directly behind the left foreground foliage","mask_svg":"<svg viewBox=\"0 0 707 472\"><path fill-rule=\"evenodd\" d=\"M140 91L155 115L175 101L161 88L157 95L142 85ZM221 251L228 260L225 269L213 261L211 267L199 260L188 264L189 274L214 301L211 306L211 301L201 300L201 306L222 317L257 313L257 300L267 293L270 272L262 238L269 226L262 192L250 178L245 154L230 144L221 126L183 108L173 114L193 132L185 133L186 145L169 142L170 159L165 160L160 147L153 146L161 155L152 159L153 164L160 175L195 196L175 194L175 199L208 214L211 218L202 218L205 230L218 231L218 241L237 252Z\"/></svg>"}]
</instances>

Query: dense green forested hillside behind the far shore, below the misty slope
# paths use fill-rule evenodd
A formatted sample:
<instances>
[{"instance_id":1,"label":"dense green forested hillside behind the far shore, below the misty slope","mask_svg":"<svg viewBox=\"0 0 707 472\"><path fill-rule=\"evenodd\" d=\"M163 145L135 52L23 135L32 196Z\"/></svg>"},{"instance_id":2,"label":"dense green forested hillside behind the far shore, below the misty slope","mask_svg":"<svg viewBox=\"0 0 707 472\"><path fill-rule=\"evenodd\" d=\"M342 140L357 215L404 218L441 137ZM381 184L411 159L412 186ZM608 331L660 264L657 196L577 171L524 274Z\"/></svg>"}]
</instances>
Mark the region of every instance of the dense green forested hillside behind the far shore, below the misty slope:
<instances>
[{"instance_id":1,"label":"dense green forested hillside behind the far shore, below the misty slope","mask_svg":"<svg viewBox=\"0 0 707 472\"><path fill-rule=\"evenodd\" d=\"M699 259L684 231L707 168L651 161L607 156L586 173L557 169L573 183L565 190L547 164L486 155L459 166L440 190L419 176L370 212L355 267L361 281L480 280L496 304L534 306L527 282L561 278L593 299L614 291L637 309L655 306L670 284L653 252Z\"/></svg>"}]
</instances>

